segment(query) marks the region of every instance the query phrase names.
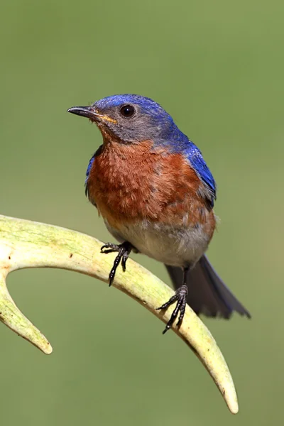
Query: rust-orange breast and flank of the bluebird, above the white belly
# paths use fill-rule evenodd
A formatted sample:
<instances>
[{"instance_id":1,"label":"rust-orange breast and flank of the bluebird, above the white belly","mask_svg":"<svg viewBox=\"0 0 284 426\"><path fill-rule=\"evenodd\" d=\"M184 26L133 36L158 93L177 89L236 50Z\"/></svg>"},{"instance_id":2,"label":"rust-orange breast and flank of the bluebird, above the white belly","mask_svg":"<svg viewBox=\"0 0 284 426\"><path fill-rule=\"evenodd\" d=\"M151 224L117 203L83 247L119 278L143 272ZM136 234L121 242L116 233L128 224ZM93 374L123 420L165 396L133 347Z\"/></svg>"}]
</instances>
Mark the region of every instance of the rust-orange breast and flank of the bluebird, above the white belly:
<instances>
[{"instance_id":1,"label":"rust-orange breast and flank of the bluebird, above the white belly","mask_svg":"<svg viewBox=\"0 0 284 426\"><path fill-rule=\"evenodd\" d=\"M212 234L214 213L200 195L203 185L182 155L152 150L151 141L105 143L87 181L89 199L109 224L148 219L182 226L206 224Z\"/></svg>"}]
</instances>

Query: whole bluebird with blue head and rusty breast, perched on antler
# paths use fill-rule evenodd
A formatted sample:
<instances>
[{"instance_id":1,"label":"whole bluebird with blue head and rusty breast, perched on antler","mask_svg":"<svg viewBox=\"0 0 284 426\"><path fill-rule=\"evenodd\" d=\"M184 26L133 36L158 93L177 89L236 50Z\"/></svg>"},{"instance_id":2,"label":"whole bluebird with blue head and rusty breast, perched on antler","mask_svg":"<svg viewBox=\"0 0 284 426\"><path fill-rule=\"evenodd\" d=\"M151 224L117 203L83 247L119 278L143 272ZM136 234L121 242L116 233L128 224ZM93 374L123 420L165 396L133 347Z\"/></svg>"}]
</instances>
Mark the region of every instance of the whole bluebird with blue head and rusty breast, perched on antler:
<instances>
[{"instance_id":1,"label":"whole bluebird with blue head and rusty breast, perched on antler","mask_svg":"<svg viewBox=\"0 0 284 426\"><path fill-rule=\"evenodd\" d=\"M175 304L163 334L180 327L186 303L197 315L251 317L209 263L205 252L216 229L217 186L199 148L163 107L138 94L115 94L67 110L95 123L103 143L87 166L85 193L110 234L102 246L117 252L109 273L126 270L131 251L165 264Z\"/></svg>"}]
</instances>

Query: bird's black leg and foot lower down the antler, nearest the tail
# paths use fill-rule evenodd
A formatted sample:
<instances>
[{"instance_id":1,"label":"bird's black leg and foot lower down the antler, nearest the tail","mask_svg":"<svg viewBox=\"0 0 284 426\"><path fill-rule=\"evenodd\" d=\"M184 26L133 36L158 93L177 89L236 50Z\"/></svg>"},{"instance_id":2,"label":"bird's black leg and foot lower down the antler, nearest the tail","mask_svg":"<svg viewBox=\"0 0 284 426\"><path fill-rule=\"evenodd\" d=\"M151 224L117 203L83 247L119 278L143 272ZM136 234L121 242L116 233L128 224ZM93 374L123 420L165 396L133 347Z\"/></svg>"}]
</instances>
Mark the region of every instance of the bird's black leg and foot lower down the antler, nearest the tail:
<instances>
[{"instance_id":1,"label":"bird's black leg and foot lower down the antler, nearest the tail","mask_svg":"<svg viewBox=\"0 0 284 426\"><path fill-rule=\"evenodd\" d=\"M181 324L182 318L185 315L185 306L186 306L187 293L188 293L187 284L186 284L188 270L189 268L183 268L182 286L178 288L178 290L176 290L175 295L170 297L170 300L168 300L168 302L165 302L162 306L156 308L157 310L166 309L168 306L177 302L177 305L175 306L175 309L173 310L170 320L165 326L163 334L165 334L165 332L168 332L168 330L172 327L173 323L175 322L175 319L178 317L178 312L180 312L180 317L178 318L177 326Z\"/></svg>"}]
</instances>

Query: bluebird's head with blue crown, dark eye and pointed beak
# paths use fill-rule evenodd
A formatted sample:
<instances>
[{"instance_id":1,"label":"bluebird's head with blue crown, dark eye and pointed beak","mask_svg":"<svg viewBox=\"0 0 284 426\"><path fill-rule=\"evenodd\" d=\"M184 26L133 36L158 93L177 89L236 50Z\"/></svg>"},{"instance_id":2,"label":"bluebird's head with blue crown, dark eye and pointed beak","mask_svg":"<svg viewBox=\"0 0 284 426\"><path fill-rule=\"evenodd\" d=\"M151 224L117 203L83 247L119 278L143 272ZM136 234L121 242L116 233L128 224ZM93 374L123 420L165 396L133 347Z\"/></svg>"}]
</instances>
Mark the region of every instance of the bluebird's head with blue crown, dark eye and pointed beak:
<instances>
[{"instance_id":1,"label":"bluebird's head with blue crown, dark eye and pointed beak","mask_svg":"<svg viewBox=\"0 0 284 426\"><path fill-rule=\"evenodd\" d=\"M173 141L182 134L159 104L138 94L116 94L89 107L72 107L68 112L87 117L104 136L115 136L121 143Z\"/></svg>"}]
</instances>

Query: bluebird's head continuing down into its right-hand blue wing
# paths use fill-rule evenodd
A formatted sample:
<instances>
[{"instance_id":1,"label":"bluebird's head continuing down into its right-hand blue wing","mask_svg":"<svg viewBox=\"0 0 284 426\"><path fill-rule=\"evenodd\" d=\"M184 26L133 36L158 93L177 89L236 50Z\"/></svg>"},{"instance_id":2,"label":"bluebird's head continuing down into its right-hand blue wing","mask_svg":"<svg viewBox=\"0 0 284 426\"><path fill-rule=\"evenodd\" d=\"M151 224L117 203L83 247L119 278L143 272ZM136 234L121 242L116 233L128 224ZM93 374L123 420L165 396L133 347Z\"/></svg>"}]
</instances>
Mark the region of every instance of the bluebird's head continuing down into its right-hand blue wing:
<instances>
[{"instance_id":1,"label":"bluebird's head continuing down into its right-hand blue wing","mask_svg":"<svg viewBox=\"0 0 284 426\"><path fill-rule=\"evenodd\" d=\"M105 138L115 137L120 143L152 141L171 152L182 153L215 197L214 178L200 150L185 136L172 117L159 104L138 94L116 94L100 99L89 107L68 109L97 124ZM213 202L213 201L212 201Z\"/></svg>"}]
</instances>

